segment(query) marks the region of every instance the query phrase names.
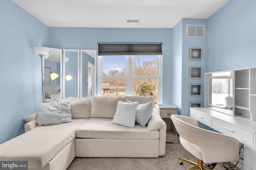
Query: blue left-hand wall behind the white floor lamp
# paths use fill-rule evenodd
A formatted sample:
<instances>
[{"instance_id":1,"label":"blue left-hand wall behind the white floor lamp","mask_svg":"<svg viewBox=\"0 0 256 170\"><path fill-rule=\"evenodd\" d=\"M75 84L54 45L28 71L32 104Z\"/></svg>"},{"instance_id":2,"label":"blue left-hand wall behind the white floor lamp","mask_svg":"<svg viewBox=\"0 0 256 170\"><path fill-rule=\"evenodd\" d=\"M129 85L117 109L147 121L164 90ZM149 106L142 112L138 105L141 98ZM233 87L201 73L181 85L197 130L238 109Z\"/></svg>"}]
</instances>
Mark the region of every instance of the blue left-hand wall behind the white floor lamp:
<instances>
[{"instance_id":1,"label":"blue left-hand wall behind the white floor lamp","mask_svg":"<svg viewBox=\"0 0 256 170\"><path fill-rule=\"evenodd\" d=\"M49 28L10 0L0 1L0 143L24 133L23 118L42 102L41 59Z\"/></svg>"}]
</instances>

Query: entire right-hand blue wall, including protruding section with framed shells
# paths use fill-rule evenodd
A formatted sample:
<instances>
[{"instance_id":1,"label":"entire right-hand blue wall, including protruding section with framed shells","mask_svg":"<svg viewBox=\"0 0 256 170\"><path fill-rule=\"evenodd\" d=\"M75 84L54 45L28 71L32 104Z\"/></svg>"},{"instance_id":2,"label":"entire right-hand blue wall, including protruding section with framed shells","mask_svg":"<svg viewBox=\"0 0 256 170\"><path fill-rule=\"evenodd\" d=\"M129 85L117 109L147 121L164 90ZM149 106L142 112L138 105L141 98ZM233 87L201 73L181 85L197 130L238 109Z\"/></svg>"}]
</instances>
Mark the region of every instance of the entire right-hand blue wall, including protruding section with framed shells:
<instances>
[{"instance_id":1,"label":"entire right-hand blue wall, including protruding section with framed shells","mask_svg":"<svg viewBox=\"0 0 256 170\"><path fill-rule=\"evenodd\" d=\"M189 115L189 102L204 107L204 73L256 66L256 1L232 0L208 20L182 19L173 29L173 104ZM205 25L204 38L186 38L186 25ZM182 29L182 33L181 33ZM202 48L201 60L189 60L189 48ZM202 78L189 78L189 67ZM201 84L201 96L189 96L189 84Z\"/></svg>"}]
</instances>

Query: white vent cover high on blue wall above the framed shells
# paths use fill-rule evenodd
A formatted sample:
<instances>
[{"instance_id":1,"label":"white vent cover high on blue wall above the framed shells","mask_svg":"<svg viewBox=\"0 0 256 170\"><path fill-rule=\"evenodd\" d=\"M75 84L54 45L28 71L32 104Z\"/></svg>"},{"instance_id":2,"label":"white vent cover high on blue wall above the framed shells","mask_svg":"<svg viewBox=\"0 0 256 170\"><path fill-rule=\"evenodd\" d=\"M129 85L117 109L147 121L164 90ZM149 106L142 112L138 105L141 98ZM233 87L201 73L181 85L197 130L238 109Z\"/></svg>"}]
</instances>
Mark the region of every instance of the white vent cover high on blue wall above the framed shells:
<instances>
[{"instance_id":1,"label":"white vent cover high on blue wall above the framed shells","mask_svg":"<svg viewBox=\"0 0 256 170\"><path fill-rule=\"evenodd\" d=\"M204 25L187 25L186 37L204 38Z\"/></svg>"}]
</instances>

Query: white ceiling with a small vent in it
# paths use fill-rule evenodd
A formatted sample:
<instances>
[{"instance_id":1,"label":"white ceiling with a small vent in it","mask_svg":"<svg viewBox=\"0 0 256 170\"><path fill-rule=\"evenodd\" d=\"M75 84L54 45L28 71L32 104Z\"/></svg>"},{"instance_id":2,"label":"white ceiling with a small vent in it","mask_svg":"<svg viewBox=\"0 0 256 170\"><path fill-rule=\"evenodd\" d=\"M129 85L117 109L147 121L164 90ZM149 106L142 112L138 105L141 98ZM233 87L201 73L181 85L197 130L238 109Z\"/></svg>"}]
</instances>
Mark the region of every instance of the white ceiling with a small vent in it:
<instances>
[{"instance_id":1,"label":"white ceiling with a small vent in it","mask_svg":"<svg viewBox=\"0 0 256 170\"><path fill-rule=\"evenodd\" d=\"M229 0L12 1L49 27L173 28L182 18L207 19Z\"/></svg>"}]
</instances>

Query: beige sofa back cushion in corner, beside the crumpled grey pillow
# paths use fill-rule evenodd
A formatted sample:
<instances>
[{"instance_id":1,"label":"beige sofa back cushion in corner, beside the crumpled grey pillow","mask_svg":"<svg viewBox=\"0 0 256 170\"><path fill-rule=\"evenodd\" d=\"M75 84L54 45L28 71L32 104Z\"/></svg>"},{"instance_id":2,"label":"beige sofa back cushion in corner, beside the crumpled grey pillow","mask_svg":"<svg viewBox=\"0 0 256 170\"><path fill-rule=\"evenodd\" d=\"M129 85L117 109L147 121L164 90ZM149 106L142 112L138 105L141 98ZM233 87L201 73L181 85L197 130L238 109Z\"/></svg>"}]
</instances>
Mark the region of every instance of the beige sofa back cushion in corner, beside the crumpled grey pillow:
<instances>
[{"instance_id":1,"label":"beige sofa back cushion in corner, beside the crumpled grey pillow","mask_svg":"<svg viewBox=\"0 0 256 170\"><path fill-rule=\"evenodd\" d=\"M72 119L74 118L90 118L92 99L91 98L82 98L78 100L72 100L71 104L71 113Z\"/></svg>"}]
</instances>

